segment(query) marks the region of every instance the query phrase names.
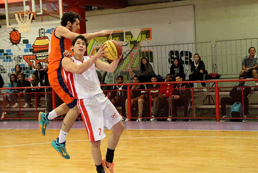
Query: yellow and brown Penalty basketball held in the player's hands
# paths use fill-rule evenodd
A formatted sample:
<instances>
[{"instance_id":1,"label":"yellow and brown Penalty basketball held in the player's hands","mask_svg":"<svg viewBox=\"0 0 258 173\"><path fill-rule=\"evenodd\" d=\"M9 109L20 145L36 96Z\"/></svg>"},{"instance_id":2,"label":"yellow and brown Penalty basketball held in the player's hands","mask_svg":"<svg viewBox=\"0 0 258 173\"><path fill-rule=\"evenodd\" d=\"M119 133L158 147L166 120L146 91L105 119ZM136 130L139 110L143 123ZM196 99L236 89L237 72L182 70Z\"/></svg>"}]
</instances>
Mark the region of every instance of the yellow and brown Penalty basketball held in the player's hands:
<instances>
[{"instance_id":1,"label":"yellow and brown Penalty basketball held in the player's hands","mask_svg":"<svg viewBox=\"0 0 258 173\"><path fill-rule=\"evenodd\" d=\"M108 53L105 53L107 56L106 59L109 60L115 60L122 54L122 47L116 40L108 40L105 42L107 48L104 49L104 51L107 51Z\"/></svg>"}]
</instances>

